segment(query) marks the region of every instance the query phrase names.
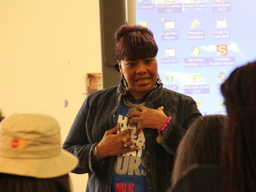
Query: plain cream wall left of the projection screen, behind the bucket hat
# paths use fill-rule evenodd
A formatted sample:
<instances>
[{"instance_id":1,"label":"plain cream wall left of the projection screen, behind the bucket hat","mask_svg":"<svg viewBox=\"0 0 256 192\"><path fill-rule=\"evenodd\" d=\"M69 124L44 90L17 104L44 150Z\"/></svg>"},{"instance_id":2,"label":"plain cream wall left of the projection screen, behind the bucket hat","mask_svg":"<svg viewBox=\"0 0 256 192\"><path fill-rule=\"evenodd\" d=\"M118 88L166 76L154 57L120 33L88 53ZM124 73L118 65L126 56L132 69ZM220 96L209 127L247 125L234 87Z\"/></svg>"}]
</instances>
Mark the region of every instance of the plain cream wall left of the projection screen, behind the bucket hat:
<instances>
[{"instance_id":1,"label":"plain cream wall left of the projection screen, behind the bucket hat","mask_svg":"<svg viewBox=\"0 0 256 192\"><path fill-rule=\"evenodd\" d=\"M53 116L64 142L100 51L98 0L0 0L0 109ZM85 191L87 174L70 176Z\"/></svg>"}]
</instances>

